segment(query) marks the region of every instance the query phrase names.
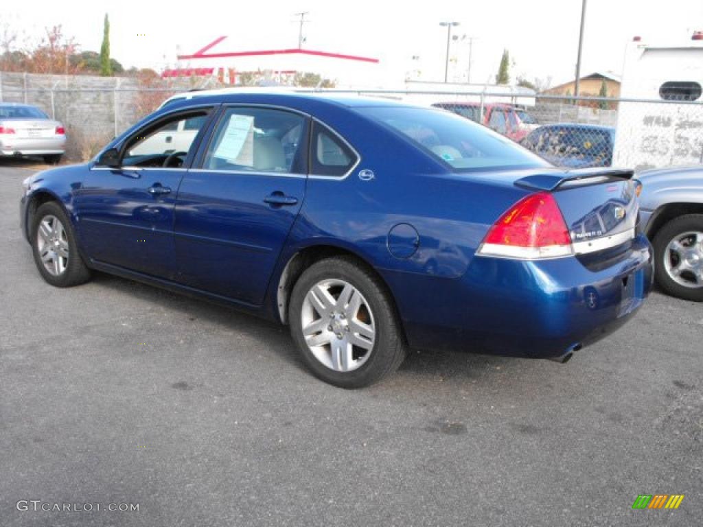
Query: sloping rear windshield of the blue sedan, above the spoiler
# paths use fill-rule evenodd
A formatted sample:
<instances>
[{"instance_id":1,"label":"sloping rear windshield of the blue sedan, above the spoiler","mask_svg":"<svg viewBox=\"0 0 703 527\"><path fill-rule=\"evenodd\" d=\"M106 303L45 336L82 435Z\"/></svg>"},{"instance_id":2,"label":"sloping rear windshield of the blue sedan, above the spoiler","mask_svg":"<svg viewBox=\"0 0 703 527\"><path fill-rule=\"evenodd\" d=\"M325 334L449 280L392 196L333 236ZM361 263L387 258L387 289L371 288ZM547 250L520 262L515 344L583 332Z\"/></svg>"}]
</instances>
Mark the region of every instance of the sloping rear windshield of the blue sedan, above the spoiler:
<instances>
[{"instance_id":1,"label":"sloping rear windshield of the blue sedan, above the spoiler","mask_svg":"<svg viewBox=\"0 0 703 527\"><path fill-rule=\"evenodd\" d=\"M453 171L550 166L510 139L449 112L403 107L359 108L359 111L399 131Z\"/></svg>"}]
</instances>

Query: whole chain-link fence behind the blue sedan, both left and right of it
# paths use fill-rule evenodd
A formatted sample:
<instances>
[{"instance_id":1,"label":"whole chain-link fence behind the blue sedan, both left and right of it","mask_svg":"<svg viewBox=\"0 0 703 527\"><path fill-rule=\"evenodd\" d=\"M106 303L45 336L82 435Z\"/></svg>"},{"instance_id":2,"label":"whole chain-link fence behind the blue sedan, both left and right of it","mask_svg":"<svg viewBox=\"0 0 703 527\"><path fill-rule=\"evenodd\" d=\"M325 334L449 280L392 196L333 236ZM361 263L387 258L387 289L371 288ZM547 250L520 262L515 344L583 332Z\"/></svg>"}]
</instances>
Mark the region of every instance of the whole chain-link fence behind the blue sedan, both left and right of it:
<instances>
[{"instance_id":1,"label":"whole chain-link fence behind the blue sedan, both left and right of it","mask_svg":"<svg viewBox=\"0 0 703 527\"><path fill-rule=\"evenodd\" d=\"M183 90L6 87L0 92L0 101L37 105L63 122L69 143L67 157L85 160L178 91ZM522 92L323 91L389 98L456 112L561 167L617 165L645 169L703 162L700 100L532 96ZM432 138L428 136L427 141Z\"/></svg>"}]
</instances>

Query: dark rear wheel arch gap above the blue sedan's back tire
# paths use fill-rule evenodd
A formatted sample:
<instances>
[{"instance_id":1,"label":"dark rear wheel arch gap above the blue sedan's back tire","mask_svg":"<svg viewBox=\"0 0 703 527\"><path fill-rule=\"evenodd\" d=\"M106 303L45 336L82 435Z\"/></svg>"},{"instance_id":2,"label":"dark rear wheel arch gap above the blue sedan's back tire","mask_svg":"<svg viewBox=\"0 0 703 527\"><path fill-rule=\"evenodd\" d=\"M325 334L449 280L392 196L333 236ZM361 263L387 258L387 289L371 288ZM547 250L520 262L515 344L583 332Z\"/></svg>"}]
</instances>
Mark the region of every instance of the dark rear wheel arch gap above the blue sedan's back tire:
<instances>
[{"instance_id":1,"label":"dark rear wheel arch gap above the blue sedan's back tire","mask_svg":"<svg viewBox=\"0 0 703 527\"><path fill-rule=\"evenodd\" d=\"M383 278L383 276L376 271L376 269L362 256L356 254L349 249L343 247L338 247L336 245L311 245L299 250L293 256L288 259L288 262L283 268L283 272L280 274L278 280L278 285L276 287L276 308L278 313L278 318L281 323L288 324L288 304L290 302L290 294L295 287L295 283L302 275L305 269L309 268L313 263L318 261L333 258L335 256L347 257L349 260L353 261L357 265L365 268L370 273L373 273L385 289L385 293L388 295L389 300L394 308L397 320L399 320L401 326L402 338L407 342L405 329L403 327L403 321L400 317L400 312L396 304L396 299L393 292L391 291L388 283Z\"/></svg>"}]
</instances>

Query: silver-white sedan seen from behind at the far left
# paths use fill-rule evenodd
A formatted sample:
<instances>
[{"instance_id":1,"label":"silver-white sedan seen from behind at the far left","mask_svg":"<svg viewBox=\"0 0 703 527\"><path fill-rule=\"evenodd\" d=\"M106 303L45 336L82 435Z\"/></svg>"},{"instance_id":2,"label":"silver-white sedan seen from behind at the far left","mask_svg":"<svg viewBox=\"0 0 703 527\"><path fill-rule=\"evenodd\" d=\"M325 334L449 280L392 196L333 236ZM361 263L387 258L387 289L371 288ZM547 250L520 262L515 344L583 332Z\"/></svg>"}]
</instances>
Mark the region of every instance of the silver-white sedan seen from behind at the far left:
<instances>
[{"instance_id":1,"label":"silver-white sedan seen from behind at the far left","mask_svg":"<svg viewBox=\"0 0 703 527\"><path fill-rule=\"evenodd\" d=\"M37 155L58 163L65 152L66 130L36 106L0 103L0 156Z\"/></svg>"}]
</instances>

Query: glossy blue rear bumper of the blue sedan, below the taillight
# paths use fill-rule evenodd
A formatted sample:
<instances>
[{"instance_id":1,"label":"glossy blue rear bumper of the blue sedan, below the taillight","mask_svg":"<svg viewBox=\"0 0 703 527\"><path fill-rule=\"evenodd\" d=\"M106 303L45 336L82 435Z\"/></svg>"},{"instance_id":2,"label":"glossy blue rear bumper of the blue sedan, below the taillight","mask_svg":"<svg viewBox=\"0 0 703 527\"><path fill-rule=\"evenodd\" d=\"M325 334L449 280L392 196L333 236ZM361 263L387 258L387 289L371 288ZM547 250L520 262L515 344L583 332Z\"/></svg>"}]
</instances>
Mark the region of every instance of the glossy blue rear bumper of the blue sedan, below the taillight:
<instances>
[{"instance_id":1,"label":"glossy blue rear bumper of the blue sedan, below the taillight","mask_svg":"<svg viewBox=\"0 0 703 527\"><path fill-rule=\"evenodd\" d=\"M399 277L387 279L398 290ZM652 287L652 249L638 235L597 271L575 257L476 256L463 278L412 280L399 295L411 346L558 358L606 337L638 311Z\"/></svg>"}]
</instances>

